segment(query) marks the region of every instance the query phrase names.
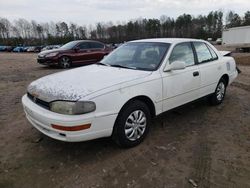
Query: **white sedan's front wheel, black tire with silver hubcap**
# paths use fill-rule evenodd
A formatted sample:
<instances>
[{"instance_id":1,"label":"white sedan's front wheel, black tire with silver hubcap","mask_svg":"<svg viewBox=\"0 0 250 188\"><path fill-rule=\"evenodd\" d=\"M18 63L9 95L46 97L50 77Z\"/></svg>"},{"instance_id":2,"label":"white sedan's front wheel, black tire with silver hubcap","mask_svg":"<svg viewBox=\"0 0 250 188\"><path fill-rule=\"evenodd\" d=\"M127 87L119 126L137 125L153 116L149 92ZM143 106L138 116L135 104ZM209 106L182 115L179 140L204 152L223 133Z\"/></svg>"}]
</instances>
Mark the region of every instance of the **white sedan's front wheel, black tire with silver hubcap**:
<instances>
[{"instance_id":1,"label":"white sedan's front wheel, black tire with silver hubcap","mask_svg":"<svg viewBox=\"0 0 250 188\"><path fill-rule=\"evenodd\" d=\"M119 113L112 138L120 147L136 146L148 134L150 122L148 106L139 100L131 101Z\"/></svg>"}]
</instances>

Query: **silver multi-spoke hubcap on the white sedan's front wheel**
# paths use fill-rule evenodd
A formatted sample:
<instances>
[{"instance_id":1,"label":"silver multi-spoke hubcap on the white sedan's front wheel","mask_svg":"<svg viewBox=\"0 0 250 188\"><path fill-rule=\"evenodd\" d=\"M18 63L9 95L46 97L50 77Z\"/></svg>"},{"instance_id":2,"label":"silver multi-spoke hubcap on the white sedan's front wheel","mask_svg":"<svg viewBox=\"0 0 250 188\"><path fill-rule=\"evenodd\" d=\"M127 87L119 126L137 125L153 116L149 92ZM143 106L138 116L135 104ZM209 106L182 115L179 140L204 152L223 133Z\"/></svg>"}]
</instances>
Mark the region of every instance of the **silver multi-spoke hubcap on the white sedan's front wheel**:
<instances>
[{"instance_id":1,"label":"silver multi-spoke hubcap on the white sedan's front wheel","mask_svg":"<svg viewBox=\"0 0 250 188\"><path fill-rule=\"evenodd\" d=\"M147 118L143 111L136 110L132 112L125 123L125 135L130 141L139 139L145 132Z\"/></svg>"}]
</instances>

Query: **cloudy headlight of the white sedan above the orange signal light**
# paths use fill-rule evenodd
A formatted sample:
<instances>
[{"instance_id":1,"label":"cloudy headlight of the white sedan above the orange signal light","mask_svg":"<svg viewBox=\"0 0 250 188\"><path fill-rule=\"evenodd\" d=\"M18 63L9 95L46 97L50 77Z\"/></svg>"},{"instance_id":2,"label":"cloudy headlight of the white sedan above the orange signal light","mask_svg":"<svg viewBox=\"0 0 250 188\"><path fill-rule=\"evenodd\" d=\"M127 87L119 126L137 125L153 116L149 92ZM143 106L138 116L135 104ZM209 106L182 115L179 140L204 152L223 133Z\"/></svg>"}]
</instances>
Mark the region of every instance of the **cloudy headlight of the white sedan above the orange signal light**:
<instances>
[{"instance_id":1,"label":"cloudy headlight of the white sedan above the orange signal light","mask_svg":"<svg viewBox=\"0 0 250 188\"><path fill-rule=\"evenodd\" d=\"M91 101L55 101L50 104L50 110L59 114L78 115L93 112L96 105Z\"/></svg>"}]
</instances>

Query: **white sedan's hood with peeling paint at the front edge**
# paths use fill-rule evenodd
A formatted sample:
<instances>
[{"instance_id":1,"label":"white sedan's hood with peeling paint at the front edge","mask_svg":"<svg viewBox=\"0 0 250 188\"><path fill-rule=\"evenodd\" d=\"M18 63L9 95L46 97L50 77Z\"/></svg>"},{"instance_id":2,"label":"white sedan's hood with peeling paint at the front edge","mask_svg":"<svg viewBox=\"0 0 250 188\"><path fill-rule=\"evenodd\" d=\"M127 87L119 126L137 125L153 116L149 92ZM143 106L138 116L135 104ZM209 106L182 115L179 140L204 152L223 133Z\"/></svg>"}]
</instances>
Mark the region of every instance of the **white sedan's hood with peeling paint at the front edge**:
<instances>
[{"instance_id":1,"label":"white sedan's hood with peeling paint at the front edge","mask_svg":"<svg viewBox=\"0 0 250 188\"><path fill-rule=\"evenodd\" d=\"M28 86L28 93L46 102L77 101L97 91L150 74L149 71L89 65L40 78Z\"/></svg>"}]
</instances>

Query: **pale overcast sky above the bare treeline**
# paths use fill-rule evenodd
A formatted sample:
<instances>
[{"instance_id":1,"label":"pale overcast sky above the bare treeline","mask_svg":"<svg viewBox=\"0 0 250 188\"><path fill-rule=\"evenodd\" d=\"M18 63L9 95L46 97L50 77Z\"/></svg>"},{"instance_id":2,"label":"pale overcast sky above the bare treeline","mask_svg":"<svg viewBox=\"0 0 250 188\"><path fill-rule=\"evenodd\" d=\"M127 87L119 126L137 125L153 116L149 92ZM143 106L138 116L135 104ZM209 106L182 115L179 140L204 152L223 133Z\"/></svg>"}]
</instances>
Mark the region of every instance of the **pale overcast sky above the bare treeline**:
<instances>
[{"instance_id":1,"label":"pale overcast sky above the bare treeline","mask_svg":"<svg viewBox=\"0 0 250 188\"><path fill-rule=\"evenodd\" d=\"M37 22L74 22L95 25L114 24L136 18L176 18L187 13L193 16L210 11L233 10L239 15L250 10L249 0L0 0L0 17L11 21L25 18Z\"/></svg>"}]
</instances>

